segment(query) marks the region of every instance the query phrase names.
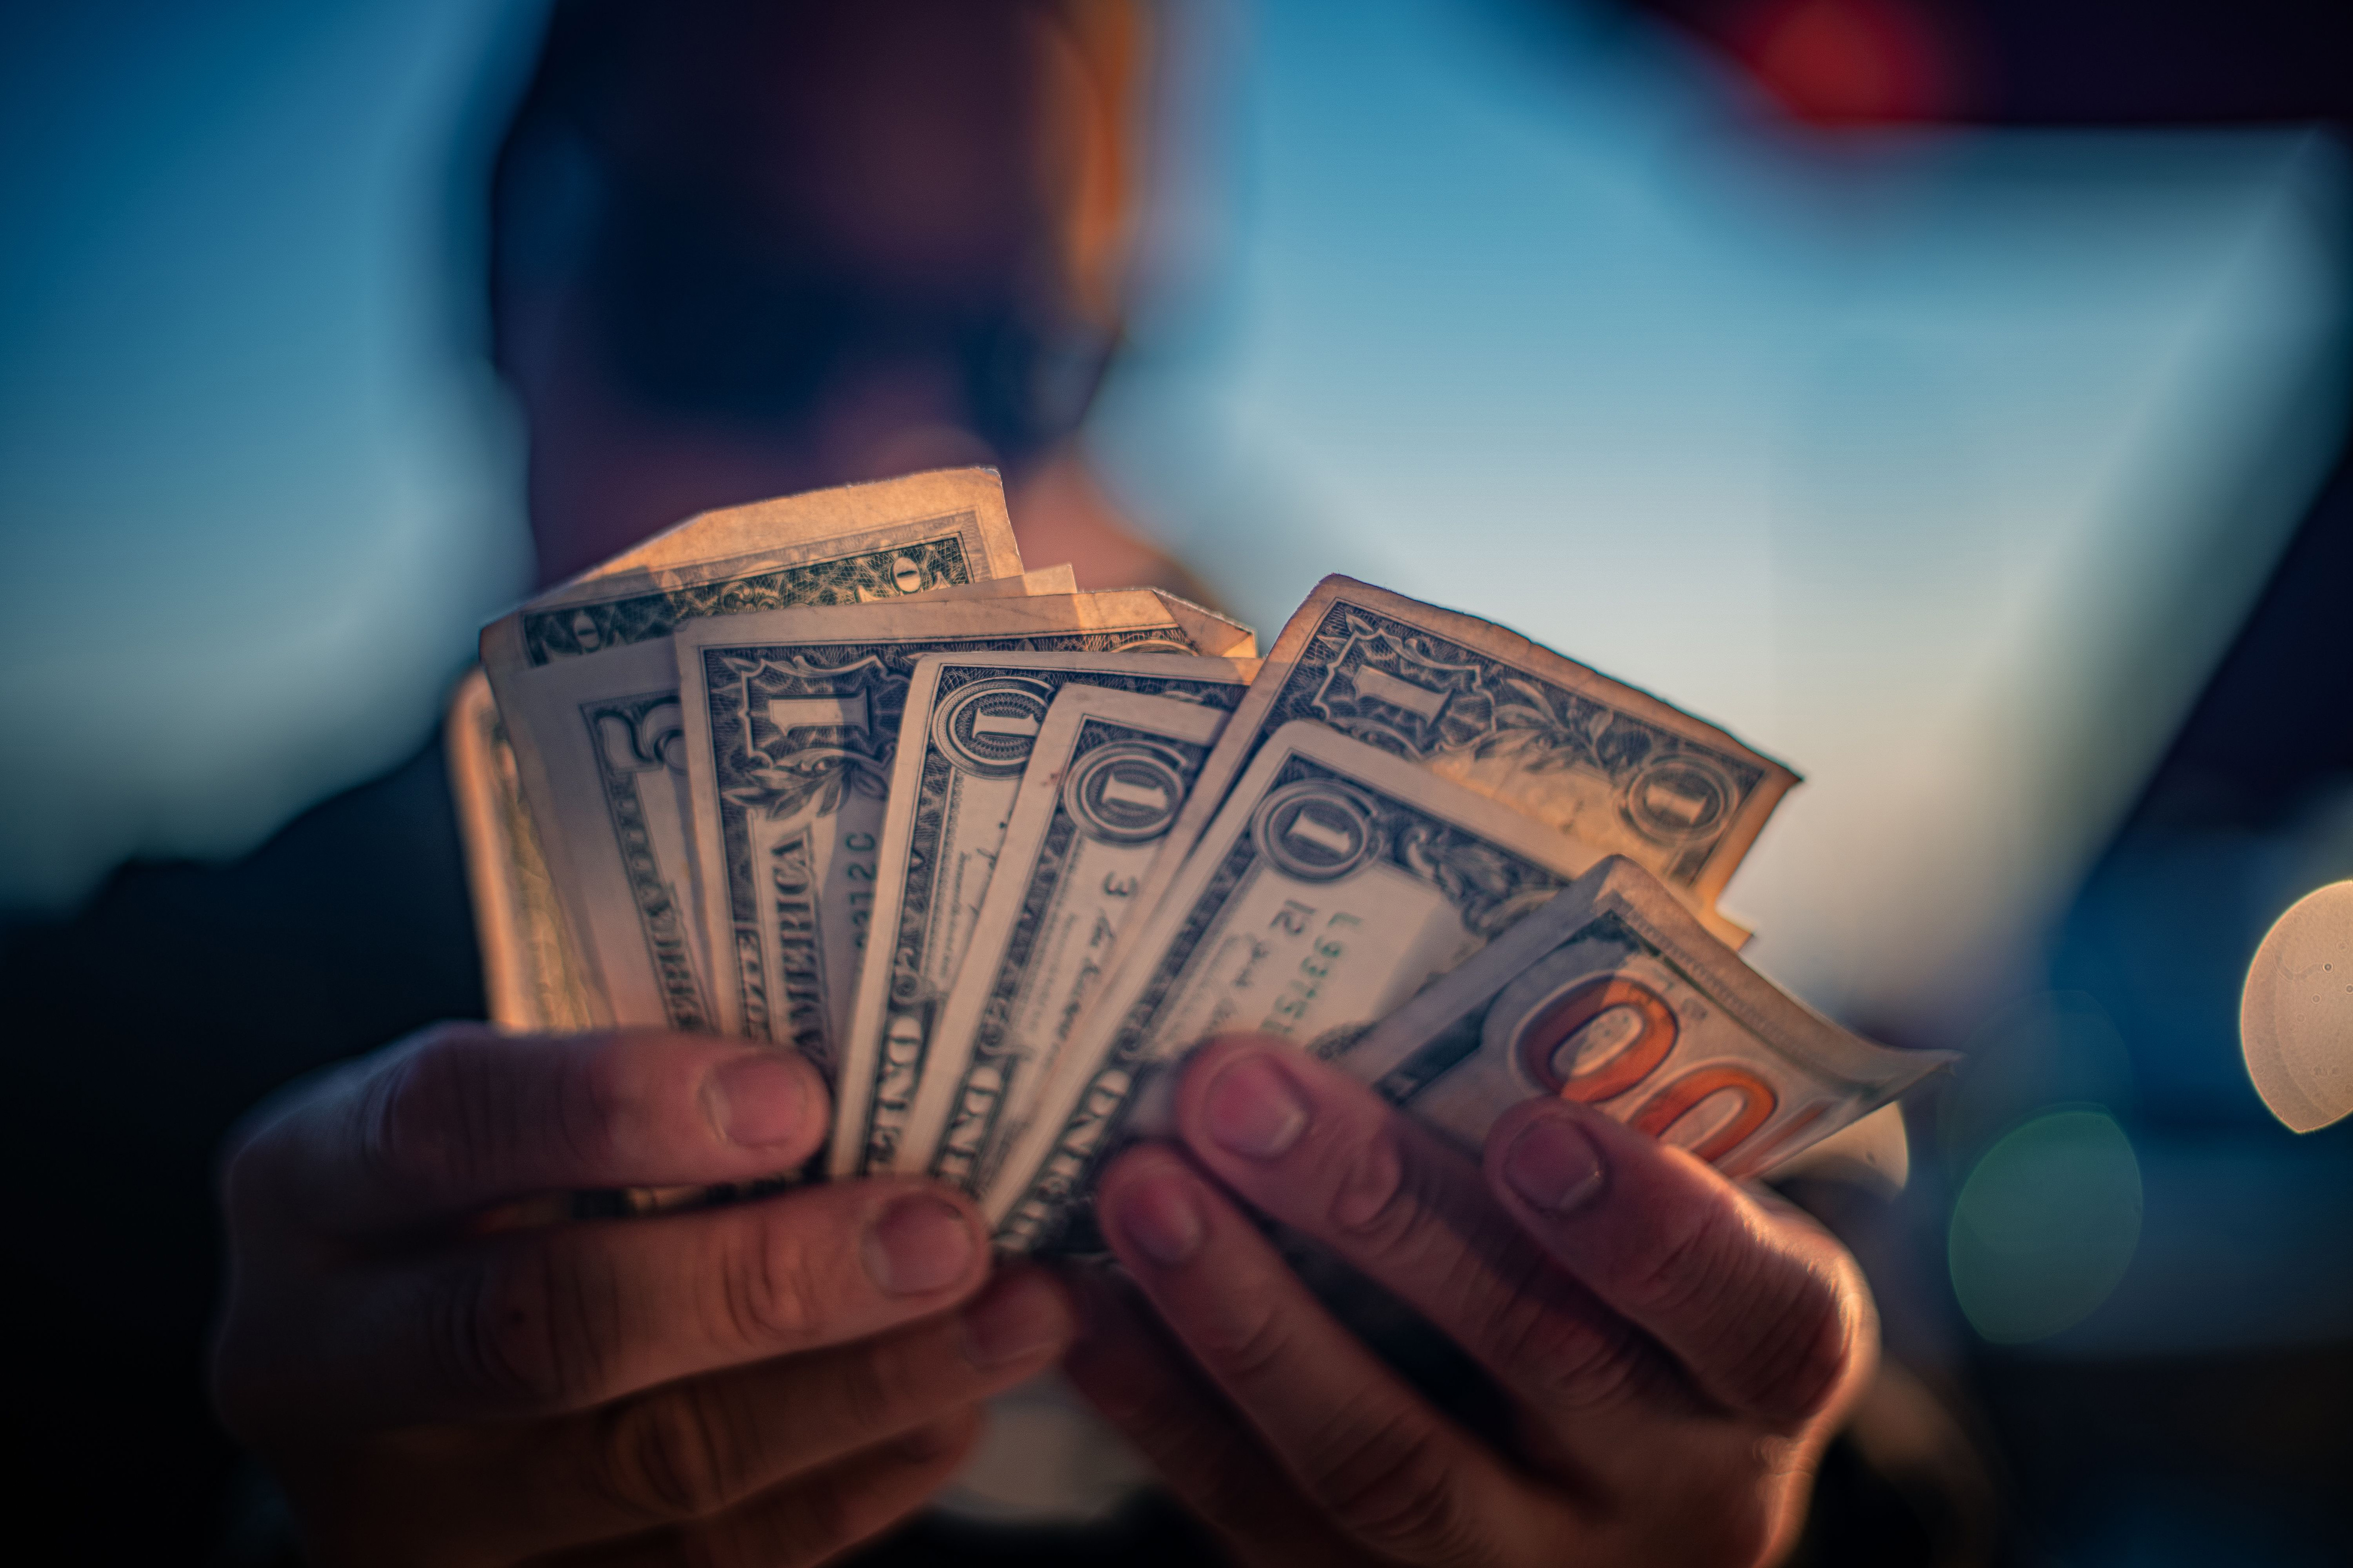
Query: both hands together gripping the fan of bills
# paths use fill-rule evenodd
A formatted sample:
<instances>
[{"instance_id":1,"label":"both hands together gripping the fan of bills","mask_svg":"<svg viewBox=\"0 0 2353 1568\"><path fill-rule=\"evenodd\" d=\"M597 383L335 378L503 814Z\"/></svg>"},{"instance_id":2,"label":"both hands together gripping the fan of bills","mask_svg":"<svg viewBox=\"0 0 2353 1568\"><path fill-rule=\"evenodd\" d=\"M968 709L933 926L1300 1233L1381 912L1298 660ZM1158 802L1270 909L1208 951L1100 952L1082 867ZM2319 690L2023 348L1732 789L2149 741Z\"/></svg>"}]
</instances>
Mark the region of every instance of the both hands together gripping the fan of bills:
<instances>
[{"instance_id":1,"label":"both hands together gripping the fan of bills","mask_svg":"<svg viewBox=\"0 0 2353 1568\"><path fill-rule=\"evenodd\" d=\"M1852 1260L1560 1103L1485 1168L1271 1039L1202 1048L1181 1145L1099 1185L1132 1274L991 1269L951 1190L529 1222L741 1182L826 1135L744 1041L442 1027L264 1112L226 1164L214 1389L320 1563L814 1563L918 1509L979 1403L1071 1380L1252 1563L1758 1563L1868 1375ZM1254 1208L1405 1300L1511 1410L1475 1436L1344 1331Z\"/></svg>"}]
</instances>

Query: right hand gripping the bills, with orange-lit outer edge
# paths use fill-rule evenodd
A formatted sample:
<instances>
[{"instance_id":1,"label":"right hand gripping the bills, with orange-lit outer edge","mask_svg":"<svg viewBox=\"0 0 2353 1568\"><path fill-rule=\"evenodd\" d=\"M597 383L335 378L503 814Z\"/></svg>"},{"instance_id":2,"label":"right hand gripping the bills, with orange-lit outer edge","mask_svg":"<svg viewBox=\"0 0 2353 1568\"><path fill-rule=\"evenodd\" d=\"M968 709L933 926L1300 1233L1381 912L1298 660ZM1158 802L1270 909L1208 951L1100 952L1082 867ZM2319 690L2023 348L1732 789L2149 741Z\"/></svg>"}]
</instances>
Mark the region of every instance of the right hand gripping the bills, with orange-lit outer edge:
<instances>
[{"instance_id":1,"label":"right hand gripping the bills, with orange-lit outer edge","mask_svg":"<svg viewBox=\"0 0 2353 1568\"><path fill-rule=\"evenodd\" d=\"M1066 1371L1245 1561L1706 1568L1788 1549L1875 1356L1859 1269L1795 1211L1560 1100L1497 1121L1480 1168L1266 1037L1205 1046L1176 1103L1186 1147L1129 1150L1096 1187L1160 1324L1099 1284ZM1228 1192L1478 1361L1506 1436L1407 1387Z\"/></svg>"}]
</instances>

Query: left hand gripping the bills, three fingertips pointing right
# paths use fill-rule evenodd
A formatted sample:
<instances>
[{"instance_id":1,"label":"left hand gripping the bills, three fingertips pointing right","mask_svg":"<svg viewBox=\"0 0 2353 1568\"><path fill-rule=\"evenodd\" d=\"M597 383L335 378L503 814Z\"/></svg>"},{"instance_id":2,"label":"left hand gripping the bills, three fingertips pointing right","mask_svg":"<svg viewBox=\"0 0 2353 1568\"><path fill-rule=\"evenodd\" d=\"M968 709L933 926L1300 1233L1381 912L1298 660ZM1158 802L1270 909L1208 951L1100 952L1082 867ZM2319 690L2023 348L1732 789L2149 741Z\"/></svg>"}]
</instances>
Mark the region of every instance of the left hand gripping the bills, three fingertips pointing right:
<instances>
[{"instance_id":1,"label":"left hand gripping the bills, three fingertips pointing right","mask_svg":"<svg viewBox=\"0 0 2353 1568\"><path fill-rule=\"evenodd\" d=\"M788 1171L826 1117L791 1053L487 1027L268 1107L226 1164L214 1396L306 1561L776 1568L918 1507L976 1401L1073 1324L1040 1269L988 1284L960 1194L852 1180L513 1222L539 1194Z\"/></svg>"}]
</instances>

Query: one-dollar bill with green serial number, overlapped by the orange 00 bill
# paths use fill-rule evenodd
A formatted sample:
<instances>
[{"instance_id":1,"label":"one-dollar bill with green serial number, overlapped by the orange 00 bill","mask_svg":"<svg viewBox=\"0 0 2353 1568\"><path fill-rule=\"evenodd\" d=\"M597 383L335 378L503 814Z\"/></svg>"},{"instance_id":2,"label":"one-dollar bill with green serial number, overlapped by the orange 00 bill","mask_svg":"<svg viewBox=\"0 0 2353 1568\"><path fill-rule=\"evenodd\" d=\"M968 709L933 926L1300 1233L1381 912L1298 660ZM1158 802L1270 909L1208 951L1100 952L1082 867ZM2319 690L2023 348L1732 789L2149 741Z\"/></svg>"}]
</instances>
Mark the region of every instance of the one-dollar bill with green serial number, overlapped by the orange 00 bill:
<instances>
[{"instance_id":1,"label":"one-dollar bill with green serial number, overlapped by the orange 00 bill","mask_svg":"<svg viewBox=\"0 0 2353 1568\"><path fill-rule=\"evenodd\" d=\"M1226 733L1240 722L1238 712ZM1056 1241L1099 1161L1151 1131L1136 1112L1155 1063L1219 1030L1329 1051L1595 858L1405 757L1322 724L1285 724L1259 745L1167 898L1122 943L1101 999L1040 1086L1035 1117L981 1192L998 1246Z\"/></svg>"}]
</instances>

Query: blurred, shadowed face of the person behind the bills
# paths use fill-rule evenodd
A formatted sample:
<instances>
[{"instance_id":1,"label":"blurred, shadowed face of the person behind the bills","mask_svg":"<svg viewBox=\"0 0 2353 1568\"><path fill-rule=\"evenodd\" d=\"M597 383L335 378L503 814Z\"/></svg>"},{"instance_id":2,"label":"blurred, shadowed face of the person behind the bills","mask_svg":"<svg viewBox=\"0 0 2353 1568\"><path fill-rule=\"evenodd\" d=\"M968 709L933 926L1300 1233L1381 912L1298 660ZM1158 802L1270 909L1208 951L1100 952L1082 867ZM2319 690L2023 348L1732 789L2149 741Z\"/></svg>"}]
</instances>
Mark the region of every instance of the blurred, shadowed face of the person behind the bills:
<instances>
[{"instance_id":1,"label":"blurred, shadowed face of the person behind the bills","mask_svg":"<svg viewBox=\"0 0 2353 1568\"><path fill-rule=\"evenodd\" d=\"M560 7L494 195L544 578L708 505L1019 468L1075 423L1134 38L1071 14Z\"/></svg>"}]
</instances>

